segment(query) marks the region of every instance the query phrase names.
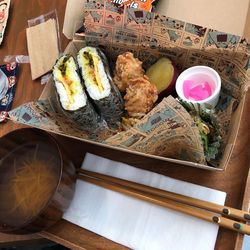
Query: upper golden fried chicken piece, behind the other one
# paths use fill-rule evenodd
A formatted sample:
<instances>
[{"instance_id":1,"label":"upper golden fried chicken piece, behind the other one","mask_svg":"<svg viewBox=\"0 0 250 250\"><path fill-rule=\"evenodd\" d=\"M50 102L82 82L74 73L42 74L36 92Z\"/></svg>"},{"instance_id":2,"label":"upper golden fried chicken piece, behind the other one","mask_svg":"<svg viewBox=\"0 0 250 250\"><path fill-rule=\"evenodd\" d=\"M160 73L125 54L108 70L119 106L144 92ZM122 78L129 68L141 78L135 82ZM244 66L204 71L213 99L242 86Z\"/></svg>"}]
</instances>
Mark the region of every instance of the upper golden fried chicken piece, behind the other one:
<instances>
[{"instance_id":1,"label":"upper golden fried chicken piece, behind the other one","mask_svg":"<svg viewBox=\"0 0 250 250\"><path fill-rule=\"evenodd\" d=\"M121 92L125 92L131 79L143 77L145 73L142 62L134 58L131 52L126 52L117 57L115 69L114 82Z\"/></svg>"}]
</instances>

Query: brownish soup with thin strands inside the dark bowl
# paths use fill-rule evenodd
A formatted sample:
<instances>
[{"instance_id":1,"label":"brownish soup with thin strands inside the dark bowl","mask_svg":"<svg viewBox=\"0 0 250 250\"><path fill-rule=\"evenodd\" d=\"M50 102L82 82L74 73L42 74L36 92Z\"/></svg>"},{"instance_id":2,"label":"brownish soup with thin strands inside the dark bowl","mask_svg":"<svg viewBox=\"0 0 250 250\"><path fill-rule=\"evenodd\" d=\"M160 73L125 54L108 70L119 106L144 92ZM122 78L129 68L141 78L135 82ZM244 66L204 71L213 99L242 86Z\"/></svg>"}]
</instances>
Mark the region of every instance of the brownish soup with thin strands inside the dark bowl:
<instances>
[{"instance_id":1,"label":"brownish soup with thin strands inside the dark bowl","mask_svg":"<svg viewBox=\"0 0 250 250\"><path fill-rule=\"evenodd\" d=\"M60 164L56 148L43 142L19 146L1 159L0 221L19 227L36 217L56 190Z\"/></svg>"}]
</instances>

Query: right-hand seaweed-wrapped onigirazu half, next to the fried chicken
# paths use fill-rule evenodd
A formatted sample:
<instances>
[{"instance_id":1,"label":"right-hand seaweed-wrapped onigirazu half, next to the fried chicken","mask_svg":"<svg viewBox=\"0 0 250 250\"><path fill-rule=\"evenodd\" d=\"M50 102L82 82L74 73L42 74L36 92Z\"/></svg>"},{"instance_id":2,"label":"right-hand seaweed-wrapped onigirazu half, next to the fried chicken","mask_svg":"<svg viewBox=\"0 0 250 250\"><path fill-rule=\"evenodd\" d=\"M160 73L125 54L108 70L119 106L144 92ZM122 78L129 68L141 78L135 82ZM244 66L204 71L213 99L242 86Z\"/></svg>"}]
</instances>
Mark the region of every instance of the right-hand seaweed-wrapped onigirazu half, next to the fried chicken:
<instances>
[{"instance_id":1,"label":"right-hand seaweed-wrapped onigirazu half, next to the fried chicken","mask_svg":"<svg viewBox=\"0 0 250 250\"><path fill-rule=\"evenodd\" d=\"M108 60L97 48L84 47L77 55L88 95L111 128L116 128L124 112L124 102L109 72Z\"/></svg>"}]
</instances>

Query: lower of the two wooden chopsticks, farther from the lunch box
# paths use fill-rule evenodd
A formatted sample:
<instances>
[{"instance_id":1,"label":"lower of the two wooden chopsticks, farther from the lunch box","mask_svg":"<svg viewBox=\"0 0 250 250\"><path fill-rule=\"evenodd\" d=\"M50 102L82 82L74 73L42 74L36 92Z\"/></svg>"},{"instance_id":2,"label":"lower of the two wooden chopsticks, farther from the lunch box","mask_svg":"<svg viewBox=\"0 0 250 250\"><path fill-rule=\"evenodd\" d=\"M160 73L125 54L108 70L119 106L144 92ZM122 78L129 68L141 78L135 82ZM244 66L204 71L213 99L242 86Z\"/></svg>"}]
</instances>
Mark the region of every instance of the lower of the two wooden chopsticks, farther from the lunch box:
<instances>
[{"instance_id":1,"label":"lower of the two wooden chopsticks, farther from the lunch box","mask_svg":"<svg viewBox=\"0 0 250 250\"><path fill-rule=\"evenodd\" d=\"M101 186L101 187L106 188L106 189L120 192L120 193L126 194L128 196L138 198L138 199L141 199L141 200L144 200L147 202L151 202L151 203L154 203L154 204L162 206L162 207L173 209L175 211L182 212L182 213L197 217L199 219L215 223L221 227L225 227L225 228L228 228L228 229L233 230L233 231L237 231L237 232L242 233L242 234L250 235L250 226L249 225L222 217L221 215L214 214L210 211L205 211L205 210L199 209L197 207L193 207L193 206L190 206L187 204L179 203L179 202L173 201L171 199L168 199L166 197L162 197L162 196L159 196L157 194L149 193L147 191L138 190L136 188L124 186L122 184L110 182L108 180L93 177L93 176L87 175L85 173L83 174L82 171L79 171L78 178L83 180L83 181Z\"/></svg>"}]
</instances>

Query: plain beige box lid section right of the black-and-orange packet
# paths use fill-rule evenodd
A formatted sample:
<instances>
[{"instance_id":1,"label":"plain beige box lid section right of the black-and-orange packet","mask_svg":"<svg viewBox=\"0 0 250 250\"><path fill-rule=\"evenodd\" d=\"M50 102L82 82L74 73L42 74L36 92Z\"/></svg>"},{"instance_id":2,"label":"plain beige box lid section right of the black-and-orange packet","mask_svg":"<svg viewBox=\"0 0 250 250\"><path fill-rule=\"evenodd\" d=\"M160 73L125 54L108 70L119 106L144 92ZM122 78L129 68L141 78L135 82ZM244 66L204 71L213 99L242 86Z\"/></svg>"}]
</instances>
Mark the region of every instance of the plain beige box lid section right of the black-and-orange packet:
<instances>
[{"instance_id":1,"label":"plain beige box lid section right of the black-and-orange packet","mask_svg":"<svg viewBox=\"0 0 250 250\"><path fill-rule=\"evenodd\" d=\"M156 8L158 14L234 35L244 34L249 0L161 0ZM250 15L250 14L249 14ZM249 17L250 18L250 17Z\"/></svg>"}]
</instances>

